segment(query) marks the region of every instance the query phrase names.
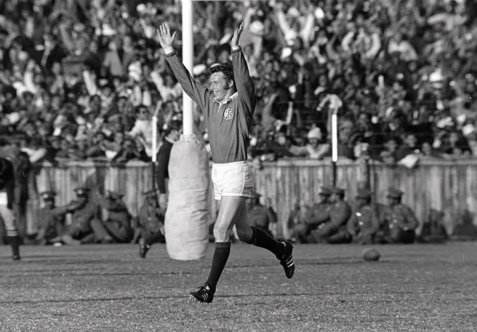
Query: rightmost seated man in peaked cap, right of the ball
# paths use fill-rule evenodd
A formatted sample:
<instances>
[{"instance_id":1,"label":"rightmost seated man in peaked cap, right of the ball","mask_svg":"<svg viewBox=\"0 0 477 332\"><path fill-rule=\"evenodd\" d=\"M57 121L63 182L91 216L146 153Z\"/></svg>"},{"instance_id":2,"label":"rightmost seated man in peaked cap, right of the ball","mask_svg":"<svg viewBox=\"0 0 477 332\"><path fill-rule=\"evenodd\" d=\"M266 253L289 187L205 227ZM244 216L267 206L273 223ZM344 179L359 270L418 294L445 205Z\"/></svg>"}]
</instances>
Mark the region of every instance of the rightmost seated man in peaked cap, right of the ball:
<instances>
[{"instance_id":1,"label":"rightmost seated man in peaked cap, right of the ball","mask_svg":"<svg viewBox=\"0 0 477 332\"><path fill-rule=\"evenodd\" d=\"M413 243L415 229L419 225L411 208L401 203L403 192L390 188L388 206L380 216L380 230L376 234L377 243Z\"/></svg>"}]
</instances>

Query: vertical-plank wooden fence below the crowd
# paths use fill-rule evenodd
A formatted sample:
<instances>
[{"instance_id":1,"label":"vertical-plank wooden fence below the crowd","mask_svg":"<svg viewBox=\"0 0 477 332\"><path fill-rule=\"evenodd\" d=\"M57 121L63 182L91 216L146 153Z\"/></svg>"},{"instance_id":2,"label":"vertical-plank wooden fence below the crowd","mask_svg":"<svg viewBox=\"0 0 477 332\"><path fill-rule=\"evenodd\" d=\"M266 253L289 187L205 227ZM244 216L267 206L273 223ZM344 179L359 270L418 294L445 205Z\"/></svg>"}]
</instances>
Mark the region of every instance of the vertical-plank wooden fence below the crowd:
<instances>
[{"instance_id":1,"label":"vertical-plank wooden fence below the crowd","mask_svg":"<svg viewBox=\"0 0 477 332\"><path fill-rule=\"evenodd\" d=\"M319 187L332 183L332 168L328 161L288 159L254 166L256 191L262 203L270 205L278 215L278 234L289 236L287 221L297 204L311 205ZM28 231L36 231L35 211L41 206L38 193L57 192L57 205L75 198L73 189L80 185L92 188L92 199L107 190L124 194L124 201L133 216L144 200L142 193L152 188L151 166L129 162L118 168L93 162L71 162L66 168L43 166L31 173L28 202ZM427 220L430 209L446 214L446 227L451 232L464 214L477 214L477 161L421 161L412 169L387 166L373 161L339 161L337 185L346 189L351 204L359 187L370 186L376 202L386 203L390 186L404 192L403 203L409 205L419 221ZM210 190L210 220L216 205Z\"/></svg>"}]
</instances>

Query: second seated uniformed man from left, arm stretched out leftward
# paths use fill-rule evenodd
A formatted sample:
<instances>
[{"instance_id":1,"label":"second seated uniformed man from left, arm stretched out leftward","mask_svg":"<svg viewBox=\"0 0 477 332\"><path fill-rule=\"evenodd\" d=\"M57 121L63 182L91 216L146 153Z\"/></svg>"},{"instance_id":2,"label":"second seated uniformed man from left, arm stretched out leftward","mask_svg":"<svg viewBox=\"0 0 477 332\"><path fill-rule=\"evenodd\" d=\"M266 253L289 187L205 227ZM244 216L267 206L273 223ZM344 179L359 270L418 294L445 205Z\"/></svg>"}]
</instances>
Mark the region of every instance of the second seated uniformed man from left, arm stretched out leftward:
<instances>
[{"instance_id":1,"label":"second seated uniformed man from left, arm stretched out leftward","mask_svg":"<svg viewBox=\"0 0 477 332\"><path fill-rule=\"evenodd\" d=\"M98 218L98 205L89 200L88 187L75 188L77 199L68 205L58 207L60 215L72 213L72 224L68 225L59 239L68 245L80 245L84 243L112 243L113 238Z\"/></svg>"}]
</instances>

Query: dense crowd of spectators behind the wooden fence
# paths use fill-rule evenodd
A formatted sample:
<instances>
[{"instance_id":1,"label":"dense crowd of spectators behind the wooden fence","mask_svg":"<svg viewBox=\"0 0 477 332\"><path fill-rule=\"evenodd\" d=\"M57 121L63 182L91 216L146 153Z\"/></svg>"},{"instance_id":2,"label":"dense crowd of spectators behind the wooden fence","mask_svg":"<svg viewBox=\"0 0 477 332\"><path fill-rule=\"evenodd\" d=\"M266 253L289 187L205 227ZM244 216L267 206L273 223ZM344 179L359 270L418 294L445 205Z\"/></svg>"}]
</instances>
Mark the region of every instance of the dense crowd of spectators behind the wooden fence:
<instances>
[{"instance_id":1,"label":"dense crowd of spectators behind the wooden fence","mask_svg":"<svg viewBox=\"0 0 477 332\"><path fill-rule=\"evenodd\" d=\"M193 6L192 71L204 83L244 22L258 96L251 158L326 158L331 112L340 158L477 156L475 1ZM181 120L182 91L156 34L167 21L180 52L181 1L5 0L0 13L0 135L17 137L32 163L149 161L152 114L160 130ZM207 140L201 119L195 109Z\"/></svg>"}]
</instances>

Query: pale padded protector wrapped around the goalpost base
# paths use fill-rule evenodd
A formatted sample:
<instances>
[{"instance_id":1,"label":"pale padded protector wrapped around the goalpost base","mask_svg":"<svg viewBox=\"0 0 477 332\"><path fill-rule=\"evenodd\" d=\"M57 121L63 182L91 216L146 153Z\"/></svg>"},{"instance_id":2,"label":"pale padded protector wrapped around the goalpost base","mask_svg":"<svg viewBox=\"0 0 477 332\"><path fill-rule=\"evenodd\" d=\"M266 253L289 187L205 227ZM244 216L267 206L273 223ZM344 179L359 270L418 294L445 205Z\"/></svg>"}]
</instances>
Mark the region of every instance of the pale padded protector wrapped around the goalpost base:
<instances>
[{"instance_id":1,"label":"pale padded protector wrapped around the goalpost base","mask_svg":"<svg viewBox=\"0 0 477 332\"><path fill-rule=\"evenodd\" d=\"M177 260L202 259L209 243L209 157L205 145L193 136L181 137L172 146L168 171L167 253Z\"/></svg>"}]
</instances>

